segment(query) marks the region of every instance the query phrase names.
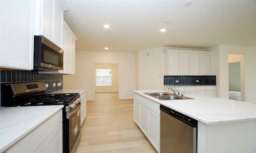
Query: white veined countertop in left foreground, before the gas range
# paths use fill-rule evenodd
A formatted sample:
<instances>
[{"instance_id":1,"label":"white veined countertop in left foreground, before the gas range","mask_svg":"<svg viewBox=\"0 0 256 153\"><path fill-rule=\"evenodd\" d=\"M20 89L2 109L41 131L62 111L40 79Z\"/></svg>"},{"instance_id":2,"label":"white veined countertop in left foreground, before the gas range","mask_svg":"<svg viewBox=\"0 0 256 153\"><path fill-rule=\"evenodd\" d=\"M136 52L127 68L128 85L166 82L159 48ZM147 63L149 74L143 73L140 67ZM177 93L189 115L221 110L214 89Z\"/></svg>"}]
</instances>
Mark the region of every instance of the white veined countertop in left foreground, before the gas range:
<instances>
[{"instance_id":1,"label":"white veined countertop in left foreground, before the gas range","mask_svg":"<svg viewBox=\"0 0 256 153\"><path fill-rule=\"evenodd\" d=\"M63 105L0 107L0 153L62 108Z\"/></svg>"}]
</instances>

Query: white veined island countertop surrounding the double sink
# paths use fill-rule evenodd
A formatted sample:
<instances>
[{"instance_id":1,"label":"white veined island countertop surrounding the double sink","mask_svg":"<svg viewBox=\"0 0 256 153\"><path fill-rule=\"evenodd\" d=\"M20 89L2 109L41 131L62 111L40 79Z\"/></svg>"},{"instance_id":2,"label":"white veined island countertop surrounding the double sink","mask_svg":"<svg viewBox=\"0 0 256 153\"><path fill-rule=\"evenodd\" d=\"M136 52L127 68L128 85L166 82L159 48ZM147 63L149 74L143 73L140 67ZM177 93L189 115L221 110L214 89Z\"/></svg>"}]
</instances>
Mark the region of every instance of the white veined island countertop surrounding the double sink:
<instances>
[{"instance_id":1,"label":"white veined island countertop surrounding the double sink","mask_svg":"<svg viewBox=\"0 0 256 153\"><path fill-rule=\"evenodd\" d=\"M250 102L240 102L188 92L182 93L185 93L186 97L194 99L158 100L143 93L165 92L164 90L134 90L134 92L208 125L256 120L256 104Z\"/></svg>"}]
</instances>

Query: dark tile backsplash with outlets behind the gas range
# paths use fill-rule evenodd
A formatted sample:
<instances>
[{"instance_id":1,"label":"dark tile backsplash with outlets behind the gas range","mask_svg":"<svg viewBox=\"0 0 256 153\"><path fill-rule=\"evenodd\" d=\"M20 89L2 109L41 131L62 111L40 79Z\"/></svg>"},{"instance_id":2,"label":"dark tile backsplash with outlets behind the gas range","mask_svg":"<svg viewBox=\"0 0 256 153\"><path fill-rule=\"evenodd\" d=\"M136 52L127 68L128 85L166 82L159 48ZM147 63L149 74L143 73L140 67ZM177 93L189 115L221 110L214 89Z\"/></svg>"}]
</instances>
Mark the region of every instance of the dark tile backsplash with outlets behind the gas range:
<instances>
[{"instance_id":1,"label":"dark tile backsplash with outlets behind the gas range","mask_svg":"<svg viewBox=\"0 0 256 153\"><path fill-rule=\"evenodd\" d=\"M44 81L48 84L46 93L58 91L63 89L63 75L41 74L38 70L23 71L23 70L1 70L1 95L5 84L7 83L23 83L23 82L37 82ZM57 86L57 83L61 82L61 86ZM53 84L56 86L53 86ZM1 96L1 105L2 96Z\"/></svg>"}]
</instances>

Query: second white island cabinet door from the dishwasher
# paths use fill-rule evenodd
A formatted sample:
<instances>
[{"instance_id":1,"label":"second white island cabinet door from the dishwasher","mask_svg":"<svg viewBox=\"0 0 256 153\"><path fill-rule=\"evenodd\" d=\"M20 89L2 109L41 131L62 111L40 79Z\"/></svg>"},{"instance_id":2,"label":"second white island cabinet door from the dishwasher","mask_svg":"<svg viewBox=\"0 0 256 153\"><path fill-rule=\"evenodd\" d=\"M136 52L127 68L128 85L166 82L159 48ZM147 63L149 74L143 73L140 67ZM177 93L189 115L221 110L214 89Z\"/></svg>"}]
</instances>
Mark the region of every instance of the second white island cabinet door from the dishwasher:
<instances>
[{"instance_id":1,"label":"second white island cabinet door from the dishwasher","mask_svg":"<svg viewBox=\"0 0 256 153\"><path fill-rule=\"evenodd\" d=\"M144 105L140 105L140 129L147 136L148 135L148 109Z\"/></svg>"}]
</instances>

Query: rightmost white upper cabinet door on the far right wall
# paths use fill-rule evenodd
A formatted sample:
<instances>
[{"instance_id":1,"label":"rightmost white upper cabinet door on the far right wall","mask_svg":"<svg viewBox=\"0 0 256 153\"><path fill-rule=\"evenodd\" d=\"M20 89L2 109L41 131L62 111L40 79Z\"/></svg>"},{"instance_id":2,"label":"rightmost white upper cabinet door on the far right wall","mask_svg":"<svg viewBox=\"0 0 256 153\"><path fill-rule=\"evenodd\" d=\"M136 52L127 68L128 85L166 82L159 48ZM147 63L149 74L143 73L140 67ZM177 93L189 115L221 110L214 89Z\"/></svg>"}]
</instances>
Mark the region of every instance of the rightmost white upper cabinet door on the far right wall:
<instances>
[{"instance_id":1,"label":"rightmost white upper cabinet door on the far right wall","mask_svg":"<svg viewBox=\"0 0 256 153\"><path fill-rule=\"evenodd\" d=\"M200 54L200 75L210 75L210 54Z\"/></svg>"}]
</instances>

